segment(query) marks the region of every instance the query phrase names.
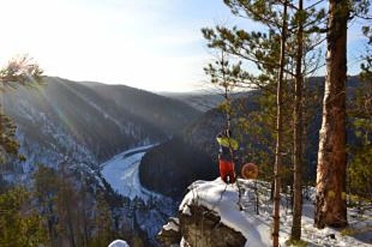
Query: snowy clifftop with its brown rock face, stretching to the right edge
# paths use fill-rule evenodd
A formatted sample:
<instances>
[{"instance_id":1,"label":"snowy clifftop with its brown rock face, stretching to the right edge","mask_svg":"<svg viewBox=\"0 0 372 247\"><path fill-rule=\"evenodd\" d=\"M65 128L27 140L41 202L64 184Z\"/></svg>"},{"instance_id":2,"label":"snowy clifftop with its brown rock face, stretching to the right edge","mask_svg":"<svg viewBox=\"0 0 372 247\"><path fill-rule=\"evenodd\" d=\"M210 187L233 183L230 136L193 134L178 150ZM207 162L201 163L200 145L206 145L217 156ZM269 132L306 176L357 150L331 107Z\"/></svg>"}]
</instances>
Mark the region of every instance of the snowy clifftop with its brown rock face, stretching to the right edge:
<instances>
[{"instance_id":1,"label":"snowy clifftop with its brown rock face, stretching to the right edge","mask_svg":"<svg viewBox=\"0 0 372 247\"><path fill-rule=\"evenodd\" d=\"M270 183L244 179L238 181L240 201L237 186L226 185L220 179L196 181L189 186L189 192L179 206L180 246L196 246L195 241L199 241L198 246L242 246L241 243L229 245L217 242L223 241L218 234L228 235L220 229L220 225L244 236L246 246L272 246ZM307 246L372 246L371 207L367 205L362 215L357 208L349 207L349 226L344 229L316 229L313 226L314 194L315 188L304 190L301 239ZM289 197L288 193L281 193L280 246L287 246L291 235L292 210ZM212 237L208 235L209 221L215 222L215 235ZM191 234L188 234L188 229L192 230ZM204 244L207 238L215 242ZM202 241L205 242L202 244Z\"/></svg>"}]
</instances>

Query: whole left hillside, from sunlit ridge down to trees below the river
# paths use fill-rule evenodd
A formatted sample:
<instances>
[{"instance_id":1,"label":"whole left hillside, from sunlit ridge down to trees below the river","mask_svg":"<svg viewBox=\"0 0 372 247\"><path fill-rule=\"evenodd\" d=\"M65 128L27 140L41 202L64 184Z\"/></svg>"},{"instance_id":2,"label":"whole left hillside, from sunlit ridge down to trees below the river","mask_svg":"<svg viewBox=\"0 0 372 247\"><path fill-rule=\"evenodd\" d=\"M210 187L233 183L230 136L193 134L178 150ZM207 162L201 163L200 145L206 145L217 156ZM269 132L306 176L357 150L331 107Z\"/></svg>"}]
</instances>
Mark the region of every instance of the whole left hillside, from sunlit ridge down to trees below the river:
<instances>
[{"instance_id":1,"label":"whole left hillside, from sunlit ridge down to trees below the river","mask_svg":"<svg viewBox=\"0 0 372 247\"><path fill-rule=\"evenodd\" d=\"M125 85L54 77L40 81L7 88L2 95L7 115L2 117L13 122L9 138L14 134L18 141L11 145L19 145L25 160L9 157L1 164L0 187L7 193L0 196L0 207L28 205L30 217L19 215L19 224L10 225L1 216L8 230L1 231L0 245L104 246L115 236L155 245L158 229L174 213L172 200L118 193L102 175L102 164L131 147L169 140L200 112ZM11 199L16 194L20 198ZM20 225L44 223L47 228L38 228L37 236L17 240Z\"/></svg>"}]
</instances>

